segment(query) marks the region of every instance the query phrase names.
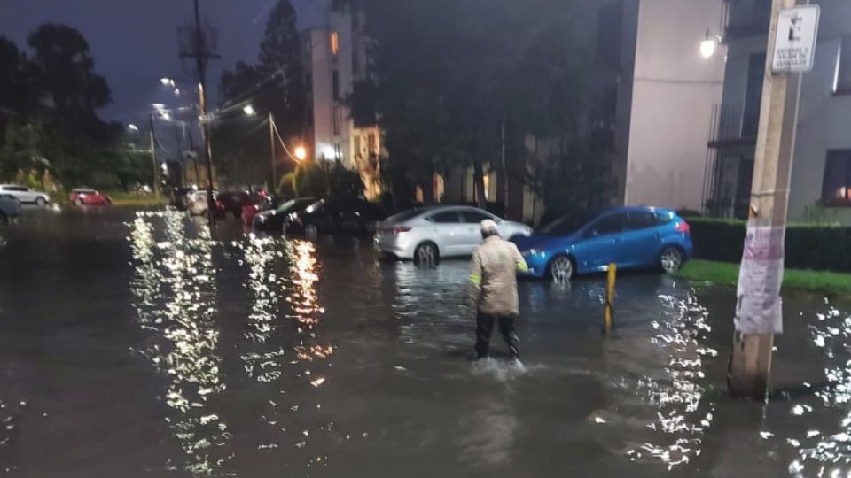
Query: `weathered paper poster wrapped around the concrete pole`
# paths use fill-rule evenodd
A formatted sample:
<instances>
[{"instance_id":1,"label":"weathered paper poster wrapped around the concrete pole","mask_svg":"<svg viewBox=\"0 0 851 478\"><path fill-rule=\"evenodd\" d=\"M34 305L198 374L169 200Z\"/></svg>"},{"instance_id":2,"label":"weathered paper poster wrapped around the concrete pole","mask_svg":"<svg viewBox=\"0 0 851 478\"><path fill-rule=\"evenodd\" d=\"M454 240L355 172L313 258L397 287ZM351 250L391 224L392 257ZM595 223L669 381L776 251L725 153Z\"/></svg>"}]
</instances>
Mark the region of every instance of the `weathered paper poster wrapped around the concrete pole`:
<instances>
[{"instance_id":1,"label":"weathered paper poster wrapped around the concrete pole","mask_svg":"<svg viewBox=\"0 0 851 478\"><path fill-rule=\"evenodd\" d=\"M736 331L742 334L783 332L785 227L747 225L745 251L738 273Z\"/></svg>"}]
</instances>

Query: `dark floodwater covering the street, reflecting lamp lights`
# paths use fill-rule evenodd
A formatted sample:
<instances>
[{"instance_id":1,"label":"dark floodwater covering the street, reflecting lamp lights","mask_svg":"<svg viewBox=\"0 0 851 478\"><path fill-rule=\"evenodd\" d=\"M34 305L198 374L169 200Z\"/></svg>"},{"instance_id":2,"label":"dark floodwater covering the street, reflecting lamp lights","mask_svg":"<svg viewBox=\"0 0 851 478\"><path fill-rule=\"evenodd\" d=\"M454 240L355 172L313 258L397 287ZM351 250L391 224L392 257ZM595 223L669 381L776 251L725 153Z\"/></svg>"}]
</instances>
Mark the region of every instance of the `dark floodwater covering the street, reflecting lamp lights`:
<instances>
[{"instance_id":1,"label":"dark floodwater covering the street, reflecting lamp lights","mask_svg":"<svg viewBox=\"0 0 851 478\"><path fill-rule=\"evenodd\" d=\"M524 281L524 366L467 360L465 261L211 237L177 212L0 228L0 475L851 476L851 307L787 297L777 390L724 386L734 295Z\"/></svg>"}]
</instances>

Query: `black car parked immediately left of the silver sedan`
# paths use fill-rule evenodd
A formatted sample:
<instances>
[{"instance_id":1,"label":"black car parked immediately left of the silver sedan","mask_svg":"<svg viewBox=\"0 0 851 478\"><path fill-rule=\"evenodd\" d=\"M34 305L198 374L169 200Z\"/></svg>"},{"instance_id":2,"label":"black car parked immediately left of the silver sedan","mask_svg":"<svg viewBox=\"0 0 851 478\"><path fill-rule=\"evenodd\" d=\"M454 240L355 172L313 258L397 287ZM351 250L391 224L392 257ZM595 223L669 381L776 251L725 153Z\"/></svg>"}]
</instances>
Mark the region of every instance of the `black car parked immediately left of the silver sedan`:
<instances>
[{"instance_id":1,"label":"black car parked immediately left of the silver sedan","mask_svg":"<svg viewBox=\"0 0 851 478\"><path fill-rule=\"evenodd\" d=\"M387 217L378 205L364 199L322 199L285 221L287 234L370 234Z\"/></svg>"}]
</instances>

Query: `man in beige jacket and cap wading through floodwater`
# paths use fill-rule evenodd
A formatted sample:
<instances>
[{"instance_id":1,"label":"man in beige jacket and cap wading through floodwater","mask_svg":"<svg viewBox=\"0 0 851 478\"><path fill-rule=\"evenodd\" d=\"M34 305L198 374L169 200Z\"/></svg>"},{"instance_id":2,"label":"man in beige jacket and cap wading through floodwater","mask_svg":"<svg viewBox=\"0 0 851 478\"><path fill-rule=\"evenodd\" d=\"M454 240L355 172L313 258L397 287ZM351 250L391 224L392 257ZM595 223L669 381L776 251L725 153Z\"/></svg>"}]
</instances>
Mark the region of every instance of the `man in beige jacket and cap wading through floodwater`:
<instances>
[{"instance_id":1,"label":"man in beige jacket and cap wading through floodwater","mask_svg":"<svg viewBox=\"0 0 851 478\"><path fill-rule=\"evenodd\" d=\"M514 243L499 236L496 222L483 220L480 228L484 243L472 255L470 271L472 298L478 311L475 359L488 357L490 335L497 322L499 333L508 344L511 360L519 361L520 340L514 332L514 320L520 314L517 271L527 271L526 260Z\"/></svg>"}]
</instances>

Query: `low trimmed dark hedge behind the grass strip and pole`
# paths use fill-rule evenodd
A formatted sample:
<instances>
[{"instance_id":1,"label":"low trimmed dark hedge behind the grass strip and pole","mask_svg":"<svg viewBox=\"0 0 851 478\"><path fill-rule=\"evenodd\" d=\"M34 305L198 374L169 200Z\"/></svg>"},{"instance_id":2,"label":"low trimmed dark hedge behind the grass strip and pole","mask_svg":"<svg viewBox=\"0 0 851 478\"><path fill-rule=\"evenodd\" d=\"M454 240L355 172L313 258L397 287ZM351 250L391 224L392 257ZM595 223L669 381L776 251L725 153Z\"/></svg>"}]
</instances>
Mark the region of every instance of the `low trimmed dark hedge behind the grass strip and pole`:
<instances>
[{"instance_id":1,"label":"low trimmed dark hedge behind the grass strip and pole","mask_svg":"<svg viewBox=\"0 0 851 478\"><path fill-rule=\"evenodd\" d=\"M688 218L694 257L724 262L742 259L746 222ZM791 269L851 272L851 227L790 225L785 266Z\"/></svg>"}]
</instances>

